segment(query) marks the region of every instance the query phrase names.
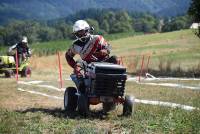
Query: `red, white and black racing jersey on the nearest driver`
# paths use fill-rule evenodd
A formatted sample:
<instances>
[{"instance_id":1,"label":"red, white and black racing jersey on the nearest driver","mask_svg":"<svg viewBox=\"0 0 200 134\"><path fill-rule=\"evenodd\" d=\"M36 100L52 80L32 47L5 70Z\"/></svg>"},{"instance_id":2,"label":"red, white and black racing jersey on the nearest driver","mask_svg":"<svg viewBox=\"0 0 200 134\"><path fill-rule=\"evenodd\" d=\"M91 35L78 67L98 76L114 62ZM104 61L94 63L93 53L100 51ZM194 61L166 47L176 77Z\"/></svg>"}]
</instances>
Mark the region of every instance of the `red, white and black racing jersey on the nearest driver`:
<instances>
[{"instance_id":1,"label":"red, white and black racing jersey on the nearest driver","mask_svg":"<svg viewBox=\"0 0 200 134\"><path fill-rule=\"evenodd\" d=\"M87 63L93 61L102 61L108 58L108 55L98 54L101 50L107 50L108 55L110 54L110 45L106 42L106 40L101 35L91 35L90 39L84 43L79 40L75 40L72 46L68 49L65 54L65 58L68 64L74 68L76 62L74 60L74 56L76 54L80 55L81 59L86 61Z\"/></svg>"}]
</instances>

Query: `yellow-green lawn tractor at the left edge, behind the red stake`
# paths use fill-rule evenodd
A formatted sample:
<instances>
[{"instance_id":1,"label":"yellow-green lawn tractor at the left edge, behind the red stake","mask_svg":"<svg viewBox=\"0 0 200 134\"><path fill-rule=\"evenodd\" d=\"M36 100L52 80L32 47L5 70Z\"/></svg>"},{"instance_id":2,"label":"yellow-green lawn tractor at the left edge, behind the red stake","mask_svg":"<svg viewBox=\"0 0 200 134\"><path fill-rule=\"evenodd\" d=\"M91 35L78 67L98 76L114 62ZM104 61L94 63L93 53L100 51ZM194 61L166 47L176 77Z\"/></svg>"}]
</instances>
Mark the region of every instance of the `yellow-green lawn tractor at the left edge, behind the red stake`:
<instances>
[{"instance_id":1,"label":"yellow-green lawn tractor at the left edge, behind the red stake","mask_svg":"<svg viewBox=\"0 0 200 134\"><path fill-rule=\"evenodd\" d=\"M16 63L13 56L0 56L0 74L5 74L6 78L10 78L16 74ZM24 60L18 67L21 77L27 77L31 74L29 60Z\"/></svg>"}]
</instances>

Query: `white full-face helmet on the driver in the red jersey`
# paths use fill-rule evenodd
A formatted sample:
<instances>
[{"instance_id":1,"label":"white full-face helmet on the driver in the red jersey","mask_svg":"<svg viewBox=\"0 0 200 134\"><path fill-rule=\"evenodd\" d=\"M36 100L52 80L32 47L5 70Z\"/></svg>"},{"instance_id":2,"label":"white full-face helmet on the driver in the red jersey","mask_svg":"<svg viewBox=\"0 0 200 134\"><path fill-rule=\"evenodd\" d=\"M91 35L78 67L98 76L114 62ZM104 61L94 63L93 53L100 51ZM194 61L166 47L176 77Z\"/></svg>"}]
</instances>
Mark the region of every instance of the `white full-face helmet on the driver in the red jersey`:
<instances>
[{"instance_id":1,"label":"white full-face helmet on the driver in the red jersey","mask_svg":"<svg viewBox=\"0 0 200 134\"><path fill-rule=\"evenodd\" d=\"M73 25L73 33L78 40L85 42L90 37L90 26L86 21L78 20Z\"/></svg>"}]
</instances>

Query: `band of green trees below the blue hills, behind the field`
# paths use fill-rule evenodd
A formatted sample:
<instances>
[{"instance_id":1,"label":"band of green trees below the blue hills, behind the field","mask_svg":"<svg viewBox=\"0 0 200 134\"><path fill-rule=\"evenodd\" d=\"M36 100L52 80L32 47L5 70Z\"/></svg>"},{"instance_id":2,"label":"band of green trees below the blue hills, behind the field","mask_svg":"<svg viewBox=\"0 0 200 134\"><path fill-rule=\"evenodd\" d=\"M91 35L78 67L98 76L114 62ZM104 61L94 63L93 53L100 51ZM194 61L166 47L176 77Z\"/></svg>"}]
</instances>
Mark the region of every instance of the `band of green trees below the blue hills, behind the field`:
<instances>
[{"instance_id":1,"label":"band of green trees below the blue hills, behind the field","mask_svg":"<svg viewBox=\"0 0 200 134\"><path fill-rule=\"evenodd\" d=\"M95 34L123 32L169 32L189 28L189 17L159 18L150 13L88 9L66 18L51 21L13 20L0 26L0 45L12 45L25 35L32 42L73 39L72 26L78 19L86 20L95 28Z\"/></svg>"}]
</instances>

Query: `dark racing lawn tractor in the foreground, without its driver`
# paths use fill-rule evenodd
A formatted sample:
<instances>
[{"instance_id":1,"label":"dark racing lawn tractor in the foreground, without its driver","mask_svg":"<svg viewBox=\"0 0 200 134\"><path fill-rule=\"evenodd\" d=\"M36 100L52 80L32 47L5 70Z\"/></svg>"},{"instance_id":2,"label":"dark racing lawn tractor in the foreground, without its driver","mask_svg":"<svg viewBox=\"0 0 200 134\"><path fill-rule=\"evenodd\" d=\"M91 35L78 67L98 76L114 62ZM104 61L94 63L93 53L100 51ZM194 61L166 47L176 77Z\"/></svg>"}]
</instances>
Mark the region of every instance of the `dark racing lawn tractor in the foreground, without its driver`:
<instances>
[{"instance_id":1,"label":"dark racing lawn tractor in the foreground, without its driver","mask_svg":"<svg viewBox=\"0 0 200 134\"><path fill-rule=\"evenodd\" d=\"M102 103L103 112L106 114L114 110L117 104L123 105L123 115L132 114L133 98L124 96L125 82L127 79L126 68L121 65L82 61L83 86L75 74L71 79L76 87L67 87L64 93L64 108L66 111L75 111L84 116L89 113L89 105Z\"/></svg>"}]
</instances>

